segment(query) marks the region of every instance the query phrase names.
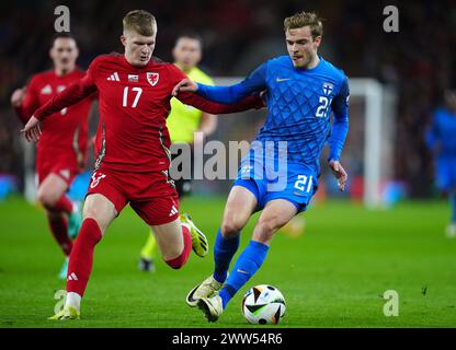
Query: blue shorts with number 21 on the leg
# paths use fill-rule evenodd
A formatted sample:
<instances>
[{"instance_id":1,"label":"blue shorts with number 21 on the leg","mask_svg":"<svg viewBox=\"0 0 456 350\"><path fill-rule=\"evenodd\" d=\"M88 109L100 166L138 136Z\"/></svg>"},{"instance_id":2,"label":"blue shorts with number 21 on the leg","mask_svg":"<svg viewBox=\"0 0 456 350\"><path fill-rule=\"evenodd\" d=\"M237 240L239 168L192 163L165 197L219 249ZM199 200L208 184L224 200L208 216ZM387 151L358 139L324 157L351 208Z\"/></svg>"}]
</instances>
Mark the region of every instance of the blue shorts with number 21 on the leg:
<instances>
[{"instance_id":1,"label":"blue shorts with number 21 on the leg","mask_svg":"<svg viewBox=\"0 0 456 350\"><path fill-rule=\"evenodd\" d=\"M242 186L255 196L256 210L274 199L285 199L305 211L318 189L317 172L304 164L263 161L250 155L241 161L232 186Z\"/></svg>"}]
</instances>

